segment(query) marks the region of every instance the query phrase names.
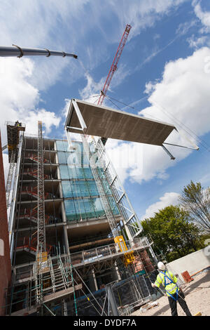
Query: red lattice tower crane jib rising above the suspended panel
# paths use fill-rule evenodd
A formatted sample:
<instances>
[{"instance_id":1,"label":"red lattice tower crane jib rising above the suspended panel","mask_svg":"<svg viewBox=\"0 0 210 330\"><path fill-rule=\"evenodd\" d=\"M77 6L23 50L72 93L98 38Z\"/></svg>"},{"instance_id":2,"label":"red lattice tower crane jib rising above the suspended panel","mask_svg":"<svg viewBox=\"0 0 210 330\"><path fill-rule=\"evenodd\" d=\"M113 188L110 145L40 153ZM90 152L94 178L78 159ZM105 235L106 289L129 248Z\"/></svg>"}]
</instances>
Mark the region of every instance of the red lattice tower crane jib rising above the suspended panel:
<instances>
[{"instance_id":1,"label":"red lattice tower crane jib rising above the suspended panel","mask_svg":"<svg viewBox=\"0 0 210 330\"><path fill-rule=\"evenodd\" d=\"M117 53L115 55L115 58L113 59L113 63L112 63L111 68L109 70L109 74L108 74L108 76L106 78L106 81L105 81L105 84L104 84L104 88L101 91L101 95L100 95L100 98L99 98L98 103L97 103L98 105L102 105L102 103L104 101L104 98L106 96L106 92L109 89L109 85L111 83L111 79L113 77L113 74L116 72L116 70L118 68L118 62L120 60L120 56L121 56L121 54L123 52L123 48L125 46L125 43L127 41L127 37L128 37L128 34L129 34L131 28L132 27L131 27L130 24L127 24L126 27L125 27L125 31L123 33L123 37L120 40L120 44L118 46L118 51L117 51ZM106 140L107 140L107 138L102 138L103 145L106 144Z\"/></svg>"}]
</instances>

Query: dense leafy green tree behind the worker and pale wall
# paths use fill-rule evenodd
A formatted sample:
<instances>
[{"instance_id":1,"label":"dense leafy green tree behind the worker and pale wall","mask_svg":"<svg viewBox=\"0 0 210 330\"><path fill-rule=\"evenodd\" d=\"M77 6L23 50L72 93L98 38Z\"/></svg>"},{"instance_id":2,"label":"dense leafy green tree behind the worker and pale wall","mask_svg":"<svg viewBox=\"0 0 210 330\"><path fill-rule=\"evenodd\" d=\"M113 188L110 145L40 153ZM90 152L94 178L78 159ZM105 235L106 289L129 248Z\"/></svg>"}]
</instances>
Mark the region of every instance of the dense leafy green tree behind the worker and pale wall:
<instances>
[{"instance_id":1,"label":"dense leafy green tree behind the worker and pale wall","mask_svg":"<svg viewBox=\"0 0 210 330\"><path fill-rule=\"evenodd\" d=\"M190 221L187 211L179 206L167 206L155 213L153 218L141 222L144 235L153 238L155 253L165 254L167 261L186 256L202 249L200 230Z\"/></svg>"}]
</instances>

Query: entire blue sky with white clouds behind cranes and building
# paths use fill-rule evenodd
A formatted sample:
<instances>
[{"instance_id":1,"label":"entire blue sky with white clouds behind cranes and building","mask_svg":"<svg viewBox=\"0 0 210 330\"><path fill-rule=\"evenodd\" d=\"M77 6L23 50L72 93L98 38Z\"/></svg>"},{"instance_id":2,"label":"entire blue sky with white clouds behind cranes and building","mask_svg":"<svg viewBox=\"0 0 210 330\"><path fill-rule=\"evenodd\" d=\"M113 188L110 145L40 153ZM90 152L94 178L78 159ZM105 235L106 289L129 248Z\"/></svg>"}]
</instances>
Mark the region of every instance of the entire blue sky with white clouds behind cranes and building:
<instances>
[{"instance_id":1,"label":"entire blue sky with white clouds behind cranes and building","mask_svg":"<svg viewBox=\"0 0 210 330\"><path fill-rule=\"evenodd\" d=\"M139 218L176 204L190 180L210 184L210 2L208 0L5 0L0 3L2 46L49 48L73 58L1 58L1 139L6 120L36 134L64 138L71 98L94 102L127 23L127 44L108 95L120 109L174 124L168 142L199 151L109 140L106 148ZM81 64L82 63L82 64ZM106 99L104 105L114 107ZM132 129L132 128L131 128ZM187 140L182 136L186 136ZM202 139L202 140L201 140ZM190 140L190 141L189 141ZM127 157L125 157L127 155ZM7 154L3 154L8 171Z\"/></svg>"}]
</instances>

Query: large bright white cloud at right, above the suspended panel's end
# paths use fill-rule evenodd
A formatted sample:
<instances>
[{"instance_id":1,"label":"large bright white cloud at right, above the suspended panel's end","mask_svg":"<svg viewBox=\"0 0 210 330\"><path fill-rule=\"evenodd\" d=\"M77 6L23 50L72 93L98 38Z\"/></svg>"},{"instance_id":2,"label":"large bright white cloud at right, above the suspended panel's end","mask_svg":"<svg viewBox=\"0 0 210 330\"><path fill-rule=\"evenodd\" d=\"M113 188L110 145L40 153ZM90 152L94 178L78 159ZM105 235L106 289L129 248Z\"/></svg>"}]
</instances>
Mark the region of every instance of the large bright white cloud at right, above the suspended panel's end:
<instances>
[{"instance_id":1,"label":"large bright white cloud at right, above the suspended panel's end","mask_svg":"<svg viewBox=\"0 0 210 330\"><path fill-rule=\"evenodd\" d=\"M162 81L156 84L155 91L148 98L152 107L141 111L141 114L153 114L172 124L179 119L198 135L207 133L210 74L205 72L205 60L209 55L210 48L204 47L188 58L167 63ZM173 118L168 117L161 108Z\"/></svg>"}]
</instances>

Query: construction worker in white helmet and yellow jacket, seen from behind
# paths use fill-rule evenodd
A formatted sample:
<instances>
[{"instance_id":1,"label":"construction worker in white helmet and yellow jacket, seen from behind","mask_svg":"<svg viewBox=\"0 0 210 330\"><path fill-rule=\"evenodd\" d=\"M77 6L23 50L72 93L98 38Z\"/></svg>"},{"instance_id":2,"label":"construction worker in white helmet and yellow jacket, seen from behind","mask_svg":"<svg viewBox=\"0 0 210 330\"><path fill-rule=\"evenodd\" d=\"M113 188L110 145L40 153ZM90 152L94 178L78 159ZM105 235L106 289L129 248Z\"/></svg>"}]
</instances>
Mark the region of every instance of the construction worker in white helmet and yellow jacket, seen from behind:
<instances>
[{"instance_id":1,"label":"construction worker in white helmet and yellow jacket, seen from behind","mask_svg":"<svg viewBox=\"0 0 210 330\"><path fill-rule=\"evenodd\" d=\"M169 305L172 310L172 316L178 316L177 301L179 305L181 305L181 308L186 313L186 315L192 316L185 301L185 295L183 291L179 288L179 286L176 284L177 277L175 277L172 272L167 271L165 269L164 263L162 262L158 263L158 270L160 273L158 274L155 283L152 283L152 286L153 288L155 286L159 288L160 284L162 284L165 287L165 291L169 298Z\"/></svg>"}]
</instances>

